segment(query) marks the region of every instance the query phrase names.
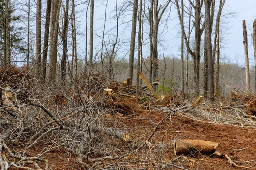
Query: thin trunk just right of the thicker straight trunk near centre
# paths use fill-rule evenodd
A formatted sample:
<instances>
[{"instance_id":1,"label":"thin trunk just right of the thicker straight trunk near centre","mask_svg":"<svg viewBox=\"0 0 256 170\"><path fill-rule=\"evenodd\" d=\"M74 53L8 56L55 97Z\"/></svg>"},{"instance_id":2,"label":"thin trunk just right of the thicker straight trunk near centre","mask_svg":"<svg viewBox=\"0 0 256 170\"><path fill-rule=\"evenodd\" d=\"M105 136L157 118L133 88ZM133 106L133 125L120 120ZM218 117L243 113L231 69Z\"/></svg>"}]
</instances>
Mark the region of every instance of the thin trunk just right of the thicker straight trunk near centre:
<instances>
[{"instance_id":1,"label":"thin trunk just right of the thicker straight trunk near centre","mask_svg":"<svg viewBox=\"0 0 256 170\"><path fill-rule=\"evenodd\" d=\"M141 14L142 14L142 1L140 0L139 11L139 32L138 32L138 60L137 60L137 72L140 71L140 50L141 50ZM139 102L139 75L136 74L136 102Z\"/></svg>"}]
</instances>

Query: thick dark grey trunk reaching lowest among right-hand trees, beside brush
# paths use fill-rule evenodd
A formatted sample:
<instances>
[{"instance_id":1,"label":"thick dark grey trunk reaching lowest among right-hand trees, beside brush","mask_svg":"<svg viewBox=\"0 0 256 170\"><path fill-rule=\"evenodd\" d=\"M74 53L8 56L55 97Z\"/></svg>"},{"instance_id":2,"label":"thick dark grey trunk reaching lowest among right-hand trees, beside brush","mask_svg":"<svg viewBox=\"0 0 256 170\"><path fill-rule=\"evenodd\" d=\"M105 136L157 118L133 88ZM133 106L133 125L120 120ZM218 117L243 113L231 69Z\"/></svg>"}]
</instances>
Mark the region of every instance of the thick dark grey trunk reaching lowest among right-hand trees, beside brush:
<instances>
[{"instance_id":1,"label":"thick dark grey trunk reaching lowest among right-hand trees, beside brush","mask_svg":"<svg viewBox=\"0 0 256 170\"><path fill-rule=\"evenodd\" d=\"M205 45L208 63L208 98L214 102L214 68L212 64L212 19L210 14L211 0L204 0L205 5Z\"/></svg>"}]
</instances>

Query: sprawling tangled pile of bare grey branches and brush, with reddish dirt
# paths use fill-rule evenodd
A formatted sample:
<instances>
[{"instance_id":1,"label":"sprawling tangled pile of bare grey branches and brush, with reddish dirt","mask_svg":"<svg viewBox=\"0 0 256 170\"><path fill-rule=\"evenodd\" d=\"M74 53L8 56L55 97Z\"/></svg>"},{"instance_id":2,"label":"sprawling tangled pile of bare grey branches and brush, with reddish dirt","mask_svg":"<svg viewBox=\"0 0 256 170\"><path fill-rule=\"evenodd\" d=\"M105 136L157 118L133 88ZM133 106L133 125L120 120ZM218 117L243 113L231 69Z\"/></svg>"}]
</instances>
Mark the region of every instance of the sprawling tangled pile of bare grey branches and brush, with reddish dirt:
<instances>
[{"instance_id":1,"label":"sprawling tangled pile of bare grey branches and brush, with reddish dirt","mask_svg":"<svg viewBox=\"0 0 256 170\"><path fill-rule=\"evenodd\" d=\"M178 138L163 142L165 130L159 130L171 116L182 114L215 124L256 126L256 117L247 114L254 96L233 99L233 95L221 107L219 103L195 107L168 94L163 105L157 106L145 92L147 87L142 86L144 96L140 96L138 105L133 96L135 87L105 79L104 74L84 76L81 81L72 79L69 86L40 85L25 71L9 68L0 70L0 82L2 169L49 170L56 160L65 159L67 169L185 170L180 164L188 161L184 156L164 156L173 150L172 142ZM105 89L111 89L111 93ZM140 117L141 113L153 112L161 113L162 118L155 122Z\"/></svg>"}]
</instances>

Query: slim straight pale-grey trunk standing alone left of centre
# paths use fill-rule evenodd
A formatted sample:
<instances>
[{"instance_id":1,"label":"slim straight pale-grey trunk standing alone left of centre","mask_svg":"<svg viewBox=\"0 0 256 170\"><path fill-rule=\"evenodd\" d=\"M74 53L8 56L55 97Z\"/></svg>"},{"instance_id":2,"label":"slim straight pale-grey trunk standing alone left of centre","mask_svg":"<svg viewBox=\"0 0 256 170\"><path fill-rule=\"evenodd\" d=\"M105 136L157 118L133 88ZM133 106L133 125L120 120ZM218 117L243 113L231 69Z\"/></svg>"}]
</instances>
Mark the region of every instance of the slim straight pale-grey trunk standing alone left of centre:
<instances>
[{"instance_id":1,"label":"slim straight pale-grey trunk standing alone left of centre","mask_svg":"<svg viewBox=\"0 0 256 170\"><path fill-rule=\"evenodd\" d=\"M89 71L93 71L93 14L94 0L90 0L90 51L89 51Z\"/></svg>"}]
</instances>

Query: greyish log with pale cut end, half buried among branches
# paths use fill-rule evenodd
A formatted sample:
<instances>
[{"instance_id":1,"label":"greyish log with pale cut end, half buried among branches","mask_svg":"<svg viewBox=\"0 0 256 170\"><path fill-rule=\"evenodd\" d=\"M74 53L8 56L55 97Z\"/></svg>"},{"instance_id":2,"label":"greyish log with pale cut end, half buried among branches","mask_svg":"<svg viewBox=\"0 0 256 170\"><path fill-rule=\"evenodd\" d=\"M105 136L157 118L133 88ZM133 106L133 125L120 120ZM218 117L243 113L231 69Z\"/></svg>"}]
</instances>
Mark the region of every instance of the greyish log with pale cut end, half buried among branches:
<instances>
[{"instance_id":1,"label":"greyish log with pale cut end, half buried among branches","mask_svg":"<svg viewBox=\"0 0 256 170\"><path fill-rule=\"evenodd\" d=\"M125 142L128 142L131 140L128 134L103 126L103 125L91 125L90 128L95 132L105 133L105 134L108 134L109 136L114 136L116 138L122 139Z\"/></svg>"}]
</instances>

